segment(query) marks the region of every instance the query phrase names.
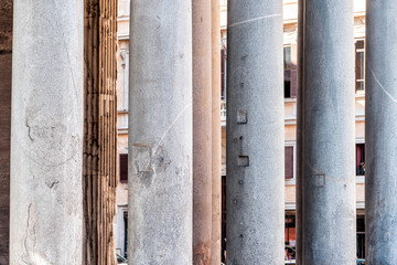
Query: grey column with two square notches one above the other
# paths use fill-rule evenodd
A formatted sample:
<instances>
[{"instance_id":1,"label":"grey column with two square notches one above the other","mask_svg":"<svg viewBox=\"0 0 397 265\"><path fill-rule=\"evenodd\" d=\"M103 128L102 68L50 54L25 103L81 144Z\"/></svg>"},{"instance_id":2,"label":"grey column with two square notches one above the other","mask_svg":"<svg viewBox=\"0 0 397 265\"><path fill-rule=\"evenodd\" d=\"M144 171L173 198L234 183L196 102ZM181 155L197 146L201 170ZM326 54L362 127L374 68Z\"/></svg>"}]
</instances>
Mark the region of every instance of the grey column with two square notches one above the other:
<instances>
[{"instance_id":1,"label":"grey column with two square notches one above the other","mask_svg":"<svg viewBox=\"0 0 397 265\"><path fill-rule=\"evenodd\" d=\"M282 1L229 0L227 264L285 259Z\"/></svg>"}]
</instances>

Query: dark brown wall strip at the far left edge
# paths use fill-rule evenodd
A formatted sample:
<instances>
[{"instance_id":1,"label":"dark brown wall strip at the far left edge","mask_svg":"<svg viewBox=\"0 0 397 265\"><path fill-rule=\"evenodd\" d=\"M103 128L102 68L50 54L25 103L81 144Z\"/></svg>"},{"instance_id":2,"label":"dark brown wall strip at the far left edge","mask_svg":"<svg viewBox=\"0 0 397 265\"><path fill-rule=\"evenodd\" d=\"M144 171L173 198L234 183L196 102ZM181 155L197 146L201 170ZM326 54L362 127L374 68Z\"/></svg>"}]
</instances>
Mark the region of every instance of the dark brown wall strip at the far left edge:
<instances>
[{"instance_id":1,"label":"dark brown wall strip at the far left edge","mask_svg":"<svg viewBox=\"0 0 397 265\"><path fill-rule=\"evenodd\" d=\"M12 0L0 1L0 264L9 264Z\"/></svg>"}]
</instances>

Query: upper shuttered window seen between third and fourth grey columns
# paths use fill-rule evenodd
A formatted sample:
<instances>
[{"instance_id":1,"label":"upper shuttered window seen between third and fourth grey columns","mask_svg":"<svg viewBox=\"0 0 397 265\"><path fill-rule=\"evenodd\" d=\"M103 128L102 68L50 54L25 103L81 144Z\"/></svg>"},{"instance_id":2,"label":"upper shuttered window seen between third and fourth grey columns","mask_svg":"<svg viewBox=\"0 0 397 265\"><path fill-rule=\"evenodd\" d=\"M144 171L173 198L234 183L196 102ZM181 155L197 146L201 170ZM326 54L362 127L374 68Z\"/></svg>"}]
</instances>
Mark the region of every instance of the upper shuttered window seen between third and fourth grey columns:
<instances>
[{"instance_id":1,"label":"upper shuttered window seen between third and fourth grey columns","mask_svg":"<svg viewBox=\"0 0 397 265\"><path fill-rule=\"evenodd\" d=\"M294 98L298 87L297 45L285 46L283 62L285 98Z\"/></svg>"}]
</instances>

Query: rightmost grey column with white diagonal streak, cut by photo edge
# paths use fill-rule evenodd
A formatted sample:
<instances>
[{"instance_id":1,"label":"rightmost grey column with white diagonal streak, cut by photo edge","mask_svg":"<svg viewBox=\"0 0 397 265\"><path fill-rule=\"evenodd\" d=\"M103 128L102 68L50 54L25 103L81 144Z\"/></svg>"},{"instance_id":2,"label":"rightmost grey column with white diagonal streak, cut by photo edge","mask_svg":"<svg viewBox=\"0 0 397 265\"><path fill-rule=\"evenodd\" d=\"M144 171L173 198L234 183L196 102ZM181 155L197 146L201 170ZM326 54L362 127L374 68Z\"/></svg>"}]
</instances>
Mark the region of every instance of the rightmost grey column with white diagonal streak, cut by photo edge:
<instances>
[{"instance_id":1,"label":"rightmost grey column with white diagonal streak, cut by photo edge","mask_svg":"<svg viewBox=\"0 0 397 265\"><path fill-rule=\"evenodd\" d=\"M367 1L365 114L365 264L397 261L396 1Z\"/></svg>"}]
</instances>

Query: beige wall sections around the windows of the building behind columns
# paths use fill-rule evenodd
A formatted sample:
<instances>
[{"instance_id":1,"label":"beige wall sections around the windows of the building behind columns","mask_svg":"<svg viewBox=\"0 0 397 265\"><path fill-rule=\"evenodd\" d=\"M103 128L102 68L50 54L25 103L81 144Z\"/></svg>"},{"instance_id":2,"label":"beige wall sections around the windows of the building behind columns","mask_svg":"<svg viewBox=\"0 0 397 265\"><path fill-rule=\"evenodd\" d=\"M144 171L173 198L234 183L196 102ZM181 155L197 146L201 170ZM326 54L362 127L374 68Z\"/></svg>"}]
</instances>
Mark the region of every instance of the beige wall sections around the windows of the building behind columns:
<instances>
[{"instance_id":1,"label":"beige wall sections around the windows of the building behind columns","mask_svg":"<svg viewBox=\"0 0 397 265\"><path fill-rule=\"evenodd\" d=\"M221 28L223 33L226 33L227 24L227 0L221 1ZM125 78L128 76L126 68L128 70L128 35L129 35L129 0L119 0L118 6L118 81L117 81L117 96L118 96L118 142L117 142L117 152L124 153L127 152L128 137L127 137L127 124L128 124L128 113L126 107L126 96L128 96L128 82ZM298 4L297 0L283 0L283 21L285 21L285 45L296 44L297 43L297 18L298 18ZM354 1L355 10L355 38L362 39L365 36L365 0L355 0ZM120 53L126 53L127 56L120 56ZM124 60L122 60L124 57ZM127 89L127 91L126 91ZM354 87L352 87L354 89ZM364 95L356 95L356 141L364 142L364 109L365 109L365 98ZM296 116L297 116L297 102L296 99L286 99L285 100L285 114L286 114L286 127L285 127L285 138L287 145L296 145ZM225 173L226 168L226 131L225 127L222 130L222 165L223 165L223 174ZM119 162L117 163L117 173ZM280 176L282 178L282 176ZM364 202L364 178L357 177L357 187L356 187L356 199L357 203ZM117 204L127 204L128 202L128 192L126 184L119 184L117 188ZM286 206L293 208L296 202L296 192L294 192L294 179L288 180L286 182Z\"/></svg>"}]
</instances>

